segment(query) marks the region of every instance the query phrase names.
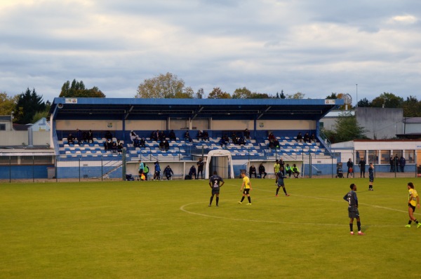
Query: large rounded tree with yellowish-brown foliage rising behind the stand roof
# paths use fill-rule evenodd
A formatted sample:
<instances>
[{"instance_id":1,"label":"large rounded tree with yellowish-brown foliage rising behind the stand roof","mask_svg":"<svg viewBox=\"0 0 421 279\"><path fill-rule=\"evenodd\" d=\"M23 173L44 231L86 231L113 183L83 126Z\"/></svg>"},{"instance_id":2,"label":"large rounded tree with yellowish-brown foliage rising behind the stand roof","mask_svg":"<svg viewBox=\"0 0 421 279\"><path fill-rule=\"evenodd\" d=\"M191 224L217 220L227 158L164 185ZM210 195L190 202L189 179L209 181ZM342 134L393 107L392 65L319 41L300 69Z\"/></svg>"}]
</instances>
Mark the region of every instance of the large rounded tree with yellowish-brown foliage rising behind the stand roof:
<instances>
[{"instance_id":1,"label":"large rounded tree with yellowish-brown foliage rising behind the stand roof","mask_svg":"<svg viewBox=\"0 0 421 279\"><path fill-rule=\"evenodd\" d=\"M183 96L185 82L171 73L159 74L152 79L145 79L138 86L137 98L175 98ZM193 97L193 96L192 96Z\"/></svg>"}]
</instances>

